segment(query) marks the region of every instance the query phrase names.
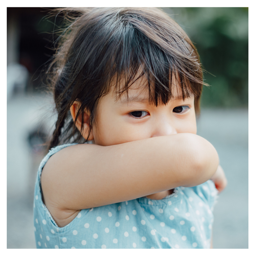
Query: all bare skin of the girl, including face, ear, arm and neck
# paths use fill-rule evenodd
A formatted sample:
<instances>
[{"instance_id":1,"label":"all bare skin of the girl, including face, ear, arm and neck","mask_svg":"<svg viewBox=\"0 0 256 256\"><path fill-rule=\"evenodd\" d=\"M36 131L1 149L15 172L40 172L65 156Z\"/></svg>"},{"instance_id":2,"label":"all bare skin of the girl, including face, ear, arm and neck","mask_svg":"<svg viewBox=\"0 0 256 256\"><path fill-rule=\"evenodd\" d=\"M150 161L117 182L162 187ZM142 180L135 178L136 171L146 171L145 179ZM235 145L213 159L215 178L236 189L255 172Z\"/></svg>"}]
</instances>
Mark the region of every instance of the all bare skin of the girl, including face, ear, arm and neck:
<instances>
[{"instance_id":1,"label":"all bare skin of the girl, including face, ear, arm and neck","mask_svg":"<svg viewBox=\"0 0 256 256\"><path fill-rule=\"evenodd\" d=\"M117 99L114 90L100 99L89 137L94 144L64 148L42 172L44 203L58 226L70 223L82 209L142 196L162 199L175 187L202 184L216 173L215 148L196 135L193 95L183 100L179 87L173 93L174 99L156 107L138 80L129 89L129 101L125 95ZM78 108L74 102L73 119ZM84 113L84 138L89 118ZM215 174L221 184L219 177Z\"/></svg>"}]
</instances>

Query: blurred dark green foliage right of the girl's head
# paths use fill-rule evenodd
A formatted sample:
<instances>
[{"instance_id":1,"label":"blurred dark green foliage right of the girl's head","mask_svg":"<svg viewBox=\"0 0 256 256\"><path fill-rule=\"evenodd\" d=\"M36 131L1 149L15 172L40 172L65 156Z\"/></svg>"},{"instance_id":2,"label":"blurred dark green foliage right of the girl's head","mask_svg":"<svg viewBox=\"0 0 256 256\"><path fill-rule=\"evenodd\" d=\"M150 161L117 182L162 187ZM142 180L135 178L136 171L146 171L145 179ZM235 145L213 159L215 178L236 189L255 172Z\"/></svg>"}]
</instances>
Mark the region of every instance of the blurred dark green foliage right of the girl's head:
<instances>
[{"instance_id":1,"label":"blurred dark green foliage right of the girl's head","mask_svg":"<svg viewBox=\"0 0 256 256\"><path fill-rule=\"evenodd\" d=\"M195 44L205 82L202 106L248 106L248 8L162 8Z\"/></svg>"}]
</instances>

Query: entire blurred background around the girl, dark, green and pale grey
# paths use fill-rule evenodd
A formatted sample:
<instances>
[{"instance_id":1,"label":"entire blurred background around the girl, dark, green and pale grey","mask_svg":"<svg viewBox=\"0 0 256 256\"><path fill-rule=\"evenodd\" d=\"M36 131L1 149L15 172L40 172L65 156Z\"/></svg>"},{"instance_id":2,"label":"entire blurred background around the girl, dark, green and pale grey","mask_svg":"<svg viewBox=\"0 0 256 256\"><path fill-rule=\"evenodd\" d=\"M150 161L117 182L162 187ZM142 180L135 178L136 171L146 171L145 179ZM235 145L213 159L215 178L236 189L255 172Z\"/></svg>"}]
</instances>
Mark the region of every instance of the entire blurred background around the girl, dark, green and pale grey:
<instances>
[{"instance_id":1,"label":"entire blurred background around the girl, dark, green and pale grey","mask_svg":"<svg viewBox=\"0 0 256 256\"><path fill-rule=\"evenodd\" d=\"M214 210L214 248L248 248L248 8L161 9L196 45L210 84L197 134L217 149L228 180ZM35 248L34 183L56 120L44 72L63 26L47 13L7 8L7 248Z\"/></svg>"}]
</instances>

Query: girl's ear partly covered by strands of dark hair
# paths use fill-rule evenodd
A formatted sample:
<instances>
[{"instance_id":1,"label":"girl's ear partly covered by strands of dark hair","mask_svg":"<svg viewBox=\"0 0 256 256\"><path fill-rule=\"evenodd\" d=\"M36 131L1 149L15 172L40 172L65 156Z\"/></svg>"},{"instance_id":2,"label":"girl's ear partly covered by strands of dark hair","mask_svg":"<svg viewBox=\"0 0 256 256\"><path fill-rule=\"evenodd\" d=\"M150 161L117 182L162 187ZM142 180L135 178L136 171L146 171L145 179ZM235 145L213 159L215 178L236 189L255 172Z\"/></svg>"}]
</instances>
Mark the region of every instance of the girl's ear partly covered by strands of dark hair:
<instances>
[{"instance_id":1,"label":"girl's ear partly covered by strands of dark hair","mask_svg":"<svg viewBox=\"0 0 256 256\"><path fill-rule=\"evenodd\" d=\"M71 108L70 108L70 112L71 112L71 116L73 118L73 121L75 122L75 118L76 118L76 115L78 113L78 109L80 107L80 103L75 101ZM83 120L84 120L84 124L83 124L83 132L81 132L82 136L84 139L87 139L88 137L88 133L89 133L89 128L90 128L90 114L89 113L86 113L84 112L83 113ZM81 127L81 124L82 124L82 114L79 114L77 120L76 120L76 128L78 128L79 131L81 131L82 127ZM93 130L91 129L91 133L90 133L90 136L88 138L88 140L93 140L94 137L93 137Z\"/></svg>"}]
</instances>

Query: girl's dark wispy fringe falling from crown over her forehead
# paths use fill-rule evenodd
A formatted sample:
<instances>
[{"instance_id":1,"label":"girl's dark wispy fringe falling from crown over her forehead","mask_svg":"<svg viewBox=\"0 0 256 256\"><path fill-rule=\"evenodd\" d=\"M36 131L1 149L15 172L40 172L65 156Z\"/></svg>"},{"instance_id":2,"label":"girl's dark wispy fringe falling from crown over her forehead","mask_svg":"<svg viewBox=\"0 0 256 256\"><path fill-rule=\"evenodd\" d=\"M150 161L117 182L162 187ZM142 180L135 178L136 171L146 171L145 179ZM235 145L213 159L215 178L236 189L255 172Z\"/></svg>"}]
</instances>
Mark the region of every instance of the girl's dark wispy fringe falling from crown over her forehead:
<instances>
[{"instance_id":1,"label":"girl's dark wispy fringe falling from crown over her forehead","mask_svg":"<svg viewBox=\"0 0 256 256\"><path fill-rule=\"evenodd\" d=\"M188 37L178 41L183 35L176 38L170 33L163 38L158 30L154 30L150 38L150 33L146 35L135 25L132 20L122 23L108 40L108 49L112 50L105 73L109 81L105 93L114 86L117 98L123 93L128 97L128 89L144 77L146 84L143 85L148 88L149 102L155 106L172 100L177 86L181 89L182 99L191 95L199 99L204 84L202 69L196 49Z\"/></svg>"}]
</instances>

